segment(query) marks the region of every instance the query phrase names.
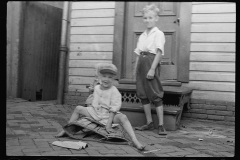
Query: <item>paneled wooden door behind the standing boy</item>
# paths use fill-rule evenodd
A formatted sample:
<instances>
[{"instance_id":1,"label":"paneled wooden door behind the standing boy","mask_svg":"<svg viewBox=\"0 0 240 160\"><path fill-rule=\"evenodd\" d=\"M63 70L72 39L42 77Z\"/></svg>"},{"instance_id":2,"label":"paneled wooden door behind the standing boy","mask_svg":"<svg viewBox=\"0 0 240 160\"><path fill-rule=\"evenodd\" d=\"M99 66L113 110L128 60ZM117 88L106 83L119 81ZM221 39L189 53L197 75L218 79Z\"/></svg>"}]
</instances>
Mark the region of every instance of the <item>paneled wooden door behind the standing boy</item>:
<instances>
[{"instance_id":1,"label":"paneled wooden door behind the standing boy","mask_svg":"<svg viewBox=\"0 0 240 160\"><path fill-rule=\"evenodd\" d=\"M138 37L145 31L141 10L154 3L160 9L156 26L165 34L165 53L162 59L161 80L177 80L177 53L179 38L179 3L177 2L128 2L125 12L123 66L120 82L131 83Z\"/></svg>"}]
</instances>

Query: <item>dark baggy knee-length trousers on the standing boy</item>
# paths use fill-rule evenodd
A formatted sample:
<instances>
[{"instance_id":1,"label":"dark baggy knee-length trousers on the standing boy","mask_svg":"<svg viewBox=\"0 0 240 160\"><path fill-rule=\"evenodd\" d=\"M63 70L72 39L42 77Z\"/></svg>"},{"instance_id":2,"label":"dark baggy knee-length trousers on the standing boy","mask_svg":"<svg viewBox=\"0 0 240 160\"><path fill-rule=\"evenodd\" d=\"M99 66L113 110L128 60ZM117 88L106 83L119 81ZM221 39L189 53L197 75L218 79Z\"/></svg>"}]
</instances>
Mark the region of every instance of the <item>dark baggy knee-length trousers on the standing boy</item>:
<instances>
[{"instance_id":1,"label":"dark baggy knee-length trousers on the standing boy","mask_svg":"<svg viewBox=\"0 0 240 160\"><path fill-rule=\"evenodd\" d=\"M143 105L154 103L156 107L163 104L163 88L160 81L160 64L155 69L153 79L147 79L148 71L152 66L155 54L149 52L141 52L137 65L137 82L136 91L138 98L141 99Z\"/></svg>"}]
</instances>

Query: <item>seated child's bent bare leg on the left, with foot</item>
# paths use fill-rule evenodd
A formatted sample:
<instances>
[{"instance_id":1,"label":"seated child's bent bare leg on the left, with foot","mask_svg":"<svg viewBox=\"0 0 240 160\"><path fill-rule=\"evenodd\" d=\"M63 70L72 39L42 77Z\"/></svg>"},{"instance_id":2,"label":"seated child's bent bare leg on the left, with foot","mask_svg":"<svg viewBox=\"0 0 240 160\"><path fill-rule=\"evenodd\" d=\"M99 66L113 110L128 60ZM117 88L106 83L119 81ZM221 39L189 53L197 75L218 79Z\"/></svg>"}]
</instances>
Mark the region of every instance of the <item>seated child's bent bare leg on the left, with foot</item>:
<instances>
[{"instance_id":1,"label":"seated child's bent bare leg on the left, with foot","mask_svg":"<svg viewBox=\"0 0 240 160\"><path fill-rule=\"evenodd\" d=\"M72 116L71 116L70 120L68 121L68 123L71 123L71 122L74 122L74 121L78 120L80 114L81 114L81 115L85 115L85 116L87 116L87 117L91 117L90 114L88 113L86 107L77 106L77 107L74 109L74 111L73 111L73 113L72 113ZM62 130L62 131L60 131L55 137L61 137L61 136L63 136L64 134L65 134L65 131Z\"/></svg>"}]
</instances>

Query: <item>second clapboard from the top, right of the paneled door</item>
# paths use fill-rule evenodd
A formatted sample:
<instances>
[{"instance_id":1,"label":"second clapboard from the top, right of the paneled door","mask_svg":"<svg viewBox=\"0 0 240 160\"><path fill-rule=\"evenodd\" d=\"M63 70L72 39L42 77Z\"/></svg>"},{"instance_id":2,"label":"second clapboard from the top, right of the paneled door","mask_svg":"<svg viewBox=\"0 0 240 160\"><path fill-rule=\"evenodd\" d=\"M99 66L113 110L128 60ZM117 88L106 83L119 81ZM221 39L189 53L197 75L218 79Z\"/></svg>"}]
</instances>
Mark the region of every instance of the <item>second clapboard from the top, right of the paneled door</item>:
<instances>
[{"instance_id":1,"label":"second clapboard from the top, right of the paneled door","mask_svg":"<svg viewBox=\"0 0 240 160\"><path fill-rule=\"evenodd\" d=\"M216 23L236 22L236 13L225 14L192 14L192 23Z\"/></svg>"}]
</instances>

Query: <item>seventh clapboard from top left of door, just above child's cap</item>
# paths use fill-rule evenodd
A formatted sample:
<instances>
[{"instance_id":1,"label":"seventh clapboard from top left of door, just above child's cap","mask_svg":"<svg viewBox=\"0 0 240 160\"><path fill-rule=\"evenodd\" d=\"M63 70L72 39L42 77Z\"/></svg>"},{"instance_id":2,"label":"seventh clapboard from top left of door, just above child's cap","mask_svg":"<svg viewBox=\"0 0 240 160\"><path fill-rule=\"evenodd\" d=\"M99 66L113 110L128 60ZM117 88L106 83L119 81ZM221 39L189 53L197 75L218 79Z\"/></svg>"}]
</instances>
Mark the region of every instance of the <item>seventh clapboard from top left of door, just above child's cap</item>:
<instances>
[{"instance_id":1,"label":"seventh clapboard from top left of door, just above child's cap","mask_svg":"<svg viewBox=\"0 0 240 160\"><path fill-rule=\"evenodd\" d=\"M70 52L69 59L112 60L112 52Z\"/></svg>"}]
</instances>

